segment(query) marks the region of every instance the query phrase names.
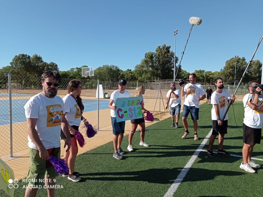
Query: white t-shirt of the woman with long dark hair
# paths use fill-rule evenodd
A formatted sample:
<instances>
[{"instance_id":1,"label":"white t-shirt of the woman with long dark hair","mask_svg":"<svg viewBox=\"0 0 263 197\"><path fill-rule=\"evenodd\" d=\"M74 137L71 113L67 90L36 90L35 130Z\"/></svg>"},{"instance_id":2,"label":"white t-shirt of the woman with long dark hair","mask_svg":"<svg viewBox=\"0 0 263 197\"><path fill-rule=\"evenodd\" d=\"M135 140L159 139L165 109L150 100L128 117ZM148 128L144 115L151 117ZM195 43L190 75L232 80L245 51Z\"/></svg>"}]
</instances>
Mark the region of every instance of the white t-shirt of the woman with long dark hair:
<instances>
[{"instance_id":1,"label":"white t-shirt of the woman with long dark hair","mask_svg":"<svg viewBox=\"0 0 263 197\"><path fill-rule=\"evenodd\" d=\"M69 94L63 98L64 109L66 113L66 119L70 126L79 126L81 122L82 113L76 100Z\"/></svg>"}]
</instances>

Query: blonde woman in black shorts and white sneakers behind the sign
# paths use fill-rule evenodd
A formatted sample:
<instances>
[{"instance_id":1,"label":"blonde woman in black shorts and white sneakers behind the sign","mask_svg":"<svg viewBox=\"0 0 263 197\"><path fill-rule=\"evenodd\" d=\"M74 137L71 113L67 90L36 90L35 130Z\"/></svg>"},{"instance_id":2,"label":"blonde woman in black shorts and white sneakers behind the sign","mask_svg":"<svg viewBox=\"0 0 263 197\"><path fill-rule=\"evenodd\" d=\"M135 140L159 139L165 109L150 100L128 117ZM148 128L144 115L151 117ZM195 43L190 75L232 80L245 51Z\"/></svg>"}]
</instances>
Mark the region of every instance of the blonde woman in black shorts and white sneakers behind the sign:
<instances>
[{"instance_id":1,"label":"blonde woman in black shorts and white sneakers behind the sign","mask_svg":"<svg viewBox=\"0 0 263 197\"><path fill-rule=\"evenodd\" d=\"M135 89L135 97L140 97L142 96L143 94L145 93L145 89L142 85L139 85L136 89ZM143 103L143 100L141 102L141 109L143 111L143 113L146 113L146 109L144 109L144 103ZM138 118L138 119L133 119L131 120L131 131L129 133L129 145L128 145L128 151L132 152L133 151L133 147L131 146L131 142L132 142L132 138L133 138L133 135L138 127L138 124L139 124L139 127L140 127L140 130L141 130L141 141L139 143L139 145L141 146L146 146L148 147L149 145L146 144L144 142L144 135L145 135L145 122L144 122L144 118Z\"/></svg>"}]
</instances>

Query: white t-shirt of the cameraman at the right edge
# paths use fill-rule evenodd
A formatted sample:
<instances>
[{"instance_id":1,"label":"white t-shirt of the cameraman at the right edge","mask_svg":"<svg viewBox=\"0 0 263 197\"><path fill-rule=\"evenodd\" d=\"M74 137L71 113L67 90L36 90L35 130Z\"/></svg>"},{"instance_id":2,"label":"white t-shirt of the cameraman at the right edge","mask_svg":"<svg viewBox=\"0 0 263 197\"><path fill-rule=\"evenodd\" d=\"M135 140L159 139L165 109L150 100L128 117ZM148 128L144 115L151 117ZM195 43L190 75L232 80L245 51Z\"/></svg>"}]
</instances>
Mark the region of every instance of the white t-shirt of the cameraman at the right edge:
<instances>
[{"instance_id":1,"label":"white t-shirt of the cameraman at the right edge","mask_svg":"<svg viewBox=\"0 0 263 197\"><path fill-rule=\"evenodd\" d=\"M244 117L244 124L246 126L260 129L262 128L263 123L263 101L262 96L259 95L258 105L255 110L251 109L246 103L251 102L254 99L254 95L252 94L246 94L243 98L243 104L245 109L245 117Z\"/></svg>"}]
</instances>

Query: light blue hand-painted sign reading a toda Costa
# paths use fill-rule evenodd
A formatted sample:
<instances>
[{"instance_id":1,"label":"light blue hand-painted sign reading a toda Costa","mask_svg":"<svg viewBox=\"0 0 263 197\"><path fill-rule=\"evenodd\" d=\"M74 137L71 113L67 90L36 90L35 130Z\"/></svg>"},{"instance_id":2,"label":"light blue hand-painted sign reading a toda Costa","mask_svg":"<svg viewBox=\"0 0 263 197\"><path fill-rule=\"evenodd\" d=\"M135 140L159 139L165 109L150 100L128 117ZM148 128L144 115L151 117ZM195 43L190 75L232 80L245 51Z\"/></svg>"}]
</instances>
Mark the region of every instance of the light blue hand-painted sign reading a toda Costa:
<instances>
[{"instance_id":1,"label":"light blue hand-painted sign reading a toda Costa","mask_svg":"<svg viewBox=\"0 0 263 197\"><path fill-rule=\"evenodd\" d=\"M115 102L117 122L127 121L143 117L141 111L143 97L117 98Z\"/></svg>"}]
</instances>

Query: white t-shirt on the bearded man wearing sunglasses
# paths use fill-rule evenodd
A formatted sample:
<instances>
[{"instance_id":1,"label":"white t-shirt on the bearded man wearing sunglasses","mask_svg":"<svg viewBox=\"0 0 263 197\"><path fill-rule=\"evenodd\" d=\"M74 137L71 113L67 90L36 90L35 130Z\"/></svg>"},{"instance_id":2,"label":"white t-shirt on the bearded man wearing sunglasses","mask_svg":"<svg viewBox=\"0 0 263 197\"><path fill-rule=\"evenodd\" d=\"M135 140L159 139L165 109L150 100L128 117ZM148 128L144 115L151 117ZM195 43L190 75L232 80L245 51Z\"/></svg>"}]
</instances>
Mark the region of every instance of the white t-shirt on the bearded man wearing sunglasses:
<instances>
[{"instance_id":1,"label":"white t-shirt on the bearded man wearing sunglasses","mask_svg":"<svg viewBox=\"0 0 263 197\"><path fill-rule=\"evenodd\" d=\"M62 98L48 98L39 93L24 106L26 118L37 118L36 130L46 149L60 147L61 119L64 113ZM28 135L28 147L38 150Z\"/></svg>"}]
</instances>

